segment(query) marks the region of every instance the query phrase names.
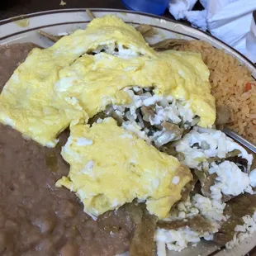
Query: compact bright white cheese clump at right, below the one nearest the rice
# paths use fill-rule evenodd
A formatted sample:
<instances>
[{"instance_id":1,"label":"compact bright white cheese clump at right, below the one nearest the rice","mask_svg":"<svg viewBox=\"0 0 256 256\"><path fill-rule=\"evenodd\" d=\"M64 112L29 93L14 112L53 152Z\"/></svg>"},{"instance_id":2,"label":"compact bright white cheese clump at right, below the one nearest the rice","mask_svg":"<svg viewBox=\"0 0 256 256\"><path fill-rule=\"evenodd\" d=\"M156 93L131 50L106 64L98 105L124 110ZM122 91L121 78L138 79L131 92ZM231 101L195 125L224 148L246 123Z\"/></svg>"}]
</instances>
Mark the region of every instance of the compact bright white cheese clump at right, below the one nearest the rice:
<instances>
[{"instance_id":1,"label":"compact bright white cheese clump at right, below the one nearest the rice","mask_svg":"<svg viewBox=\"0 0 256 256\"><path fill-rule=\"evenodd\" d=\"M248 174L242 172L233 162L224 161L219 165L213 163L209 173L218 175L215 184L210 187L211 197L215 200L220 201L222 194L238 196L244 192L254 193L252 187L250 187Z\"/></svg>"}]
</instances>

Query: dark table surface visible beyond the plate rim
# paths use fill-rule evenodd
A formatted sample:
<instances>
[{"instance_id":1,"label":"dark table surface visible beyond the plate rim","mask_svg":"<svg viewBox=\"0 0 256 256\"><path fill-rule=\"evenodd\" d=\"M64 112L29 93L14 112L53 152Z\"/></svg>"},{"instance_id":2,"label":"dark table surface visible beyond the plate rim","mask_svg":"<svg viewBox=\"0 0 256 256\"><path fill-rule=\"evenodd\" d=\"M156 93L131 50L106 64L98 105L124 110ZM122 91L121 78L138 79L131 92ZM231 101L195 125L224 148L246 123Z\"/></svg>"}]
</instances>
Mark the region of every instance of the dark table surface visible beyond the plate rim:
<instances>
[{"instance_id":1,"label":"dark table surface visible beyond the plate rim","mask_svg":"<svg viewBox=\"0 0 256 256\"><path fill-rule=\"evenodd\" d=\"M2 0L0 2L0 20L31 12L64 8L126 9L121 0L64 0L64 2L66 2L66 5L61 6L60 0ZM201 4L197 3L194 9L201 10ZM168 11L164 12L164 17L173 19ZM256 248L247 256L256 256Z\"/></svg>"}]
</instances>

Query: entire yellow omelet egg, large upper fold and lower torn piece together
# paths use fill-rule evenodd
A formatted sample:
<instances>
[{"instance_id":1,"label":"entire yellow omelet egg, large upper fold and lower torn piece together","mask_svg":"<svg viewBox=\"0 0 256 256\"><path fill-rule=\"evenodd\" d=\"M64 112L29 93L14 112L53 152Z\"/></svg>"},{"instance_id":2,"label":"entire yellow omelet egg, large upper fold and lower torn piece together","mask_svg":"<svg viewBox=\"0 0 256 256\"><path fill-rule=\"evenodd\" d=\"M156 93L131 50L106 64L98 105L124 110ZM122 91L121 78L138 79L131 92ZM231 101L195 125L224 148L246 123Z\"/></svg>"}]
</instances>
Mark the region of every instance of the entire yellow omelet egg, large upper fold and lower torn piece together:
<instances>
[{"instance_id":1,"label":"entire yellow omelet egg, large upper fold and lower torn piece together","mask_svg":"<svg viewBox=\"0 0 256 256\"><path fill-rule=\"evenodd\" d=\"M198 125L211 126L216 109L208 77L201 55L155 52L134 27L102 17L48 49L31 51L2 90L0 121L49 147L70 125L62 151L70 173L56 185L76 192L92 217L138 198L164 218L192 179L189 169L111 118L84 124L108 104L129 103L123 89L139 86L188 102Z\"/></svg>"}]
</instances>

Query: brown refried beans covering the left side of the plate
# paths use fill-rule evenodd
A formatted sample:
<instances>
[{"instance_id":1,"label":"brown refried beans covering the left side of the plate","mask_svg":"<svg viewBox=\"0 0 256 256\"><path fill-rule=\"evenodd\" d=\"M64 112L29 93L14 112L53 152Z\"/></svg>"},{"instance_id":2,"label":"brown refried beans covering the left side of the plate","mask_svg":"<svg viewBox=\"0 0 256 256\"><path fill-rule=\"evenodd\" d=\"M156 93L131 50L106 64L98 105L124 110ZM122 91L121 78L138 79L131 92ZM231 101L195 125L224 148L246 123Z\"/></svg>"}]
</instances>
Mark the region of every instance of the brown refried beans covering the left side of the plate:
<instances>
[{"instance_id":1,"label":"brown refried beans covering the left side of the plate","mask_svg":"<svg viewBox=\"0 0 256 256\"><path fill-rule=\"evenodd\" d=\"M31 43L0 46L0 91ZM65 130L48 149L0 124L0 254L115 255L128 250L135 225L125 208L92 220L73 192L55 187L69 173L60 155Z\"/></svg>"}]
</instances>

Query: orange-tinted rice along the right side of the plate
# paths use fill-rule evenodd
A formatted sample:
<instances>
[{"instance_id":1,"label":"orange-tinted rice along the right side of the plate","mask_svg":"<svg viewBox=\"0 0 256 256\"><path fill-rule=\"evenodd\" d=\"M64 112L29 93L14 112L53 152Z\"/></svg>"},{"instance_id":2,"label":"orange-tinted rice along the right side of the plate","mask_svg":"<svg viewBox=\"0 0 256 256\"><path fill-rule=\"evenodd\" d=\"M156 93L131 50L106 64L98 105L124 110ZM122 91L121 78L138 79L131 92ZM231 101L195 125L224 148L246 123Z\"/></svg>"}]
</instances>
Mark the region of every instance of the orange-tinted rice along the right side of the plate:
<instances>
[{"instance_id":1,"label":"orange-tinted rice along the right side of the plate","mask_svg":"<svg viewBox=\"0 0 256 256\"><path fill-rule=\"evenodd\" d=\"M216 97L216 107L230 108L230 121L226 126L256 144L256 81L249 70L224 50L204 41L191 40L190 44L175 49L201 53L210 69L211 93ZM247 83L250 83L249 90Z\"/></svg>"}]
</instances>

